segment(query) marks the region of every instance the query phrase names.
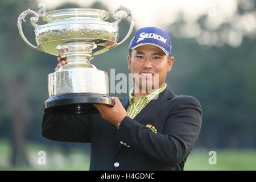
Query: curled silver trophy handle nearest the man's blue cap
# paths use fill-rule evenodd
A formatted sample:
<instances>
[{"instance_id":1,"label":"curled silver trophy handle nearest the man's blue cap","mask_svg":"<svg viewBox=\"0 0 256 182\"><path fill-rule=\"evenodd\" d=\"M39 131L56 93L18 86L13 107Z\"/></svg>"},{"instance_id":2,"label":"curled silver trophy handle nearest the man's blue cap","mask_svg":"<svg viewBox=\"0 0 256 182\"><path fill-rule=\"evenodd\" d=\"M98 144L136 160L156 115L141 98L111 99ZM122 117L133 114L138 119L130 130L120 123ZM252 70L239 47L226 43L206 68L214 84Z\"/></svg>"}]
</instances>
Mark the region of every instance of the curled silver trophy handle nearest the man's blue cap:
<instances>
[{"instance_id":1,"label":"curled silver trophy handle nearest the man's blue cap","mask_svg":"<svg viewBox=\"0 0 256 182\"><path fill-rule=\"evenodd\" d=\"M127 14L126 18L128 18L130 16L130 29L129 29L127 35L125 36L125 38L121 42L115 43L111 48L115 48L117 46L120 46L122 43L124 43L131 35L131 32L133 32L133 27L134 27L133 14L131 14L131 11L129 9L127 9L127 7L125 7L125 6L119 6L119 7L117 7L117 9L115 9L113 11L113 18L116 19L116 21L113 22L114 26L118 26L118 24L122 20L121 14L117 14L118 11L125 11Z\"/></svg>"}]
</instances>

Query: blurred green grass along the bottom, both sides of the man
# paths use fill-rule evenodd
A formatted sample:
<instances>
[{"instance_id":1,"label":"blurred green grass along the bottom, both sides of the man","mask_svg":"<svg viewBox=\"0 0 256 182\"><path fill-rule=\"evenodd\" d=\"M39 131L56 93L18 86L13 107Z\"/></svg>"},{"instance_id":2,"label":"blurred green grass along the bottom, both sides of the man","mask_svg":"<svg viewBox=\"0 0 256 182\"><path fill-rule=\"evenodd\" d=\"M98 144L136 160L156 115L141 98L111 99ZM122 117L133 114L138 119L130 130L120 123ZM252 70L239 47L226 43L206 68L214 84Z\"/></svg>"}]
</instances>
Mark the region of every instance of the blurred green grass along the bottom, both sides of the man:
<instances>
[{"instance_id":1,"label":"blurred green grass along the bottom, both sides of the man","mask_svg":"<svg viewBox=\"0 0 256 182\"><path fill-rule=\"evenodd\" d=\"M84 150L73 148L69 155L63 149L54 146L28 143L26 150L31 166L11 167L11 148L7 140L0 140L0 170L88 170L90 157ZM46 165L38 164L38 152L46 152ZM213 150L213 149L212 149ZM184 170L256 170L256 150L220 150L215 149L217 164L210 165L210 150L192 150Z\"/></svg>"}]
</instances>

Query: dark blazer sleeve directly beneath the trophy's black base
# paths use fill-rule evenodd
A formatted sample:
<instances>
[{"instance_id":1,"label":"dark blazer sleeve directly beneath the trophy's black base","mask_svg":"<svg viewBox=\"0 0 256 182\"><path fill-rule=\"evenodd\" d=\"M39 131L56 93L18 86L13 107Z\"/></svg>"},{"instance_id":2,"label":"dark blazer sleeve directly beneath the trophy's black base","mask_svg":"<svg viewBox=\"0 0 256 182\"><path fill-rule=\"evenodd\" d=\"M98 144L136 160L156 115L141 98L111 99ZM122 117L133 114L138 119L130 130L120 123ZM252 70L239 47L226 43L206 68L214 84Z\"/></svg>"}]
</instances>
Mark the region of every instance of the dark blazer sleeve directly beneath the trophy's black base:
<instances>
[{"instance_id":1,"label":"dark blazer sleeve directly beneath the trophy's black base","mask_svg":"<svg viewBox=\"0 0 256 182\"><path fill-rule=\"evenodd\" d=\"M60 142L90 142L92 115L44 113L42 135Z\"/></svg>"}]
</instances>

